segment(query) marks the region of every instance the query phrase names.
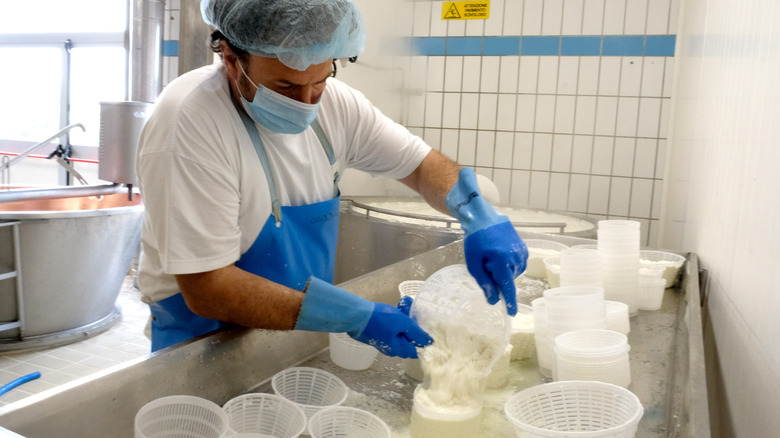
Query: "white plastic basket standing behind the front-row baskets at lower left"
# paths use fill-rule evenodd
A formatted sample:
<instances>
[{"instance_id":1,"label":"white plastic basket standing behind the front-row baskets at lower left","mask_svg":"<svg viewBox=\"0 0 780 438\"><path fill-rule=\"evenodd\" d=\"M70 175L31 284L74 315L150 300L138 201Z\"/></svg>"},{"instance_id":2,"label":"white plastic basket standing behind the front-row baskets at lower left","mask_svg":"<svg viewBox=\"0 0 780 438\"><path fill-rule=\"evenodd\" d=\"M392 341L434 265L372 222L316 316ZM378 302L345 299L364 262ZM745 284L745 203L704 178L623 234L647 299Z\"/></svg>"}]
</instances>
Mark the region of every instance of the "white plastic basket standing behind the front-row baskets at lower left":
<instances>
[{"instance_id":1,"label":"white plastic basket standing behind the front-row baskets at lower left","mask_svg":"<svg viewBox=\"0 0 780 438\"><path fill-rule=\"evenodd\" d=\"M333 374L309 367L293 367L271 378L274 392L303 409L306 418L318 411L339 406L349 395L349 388Z\"/></svg>"}]
</instances>

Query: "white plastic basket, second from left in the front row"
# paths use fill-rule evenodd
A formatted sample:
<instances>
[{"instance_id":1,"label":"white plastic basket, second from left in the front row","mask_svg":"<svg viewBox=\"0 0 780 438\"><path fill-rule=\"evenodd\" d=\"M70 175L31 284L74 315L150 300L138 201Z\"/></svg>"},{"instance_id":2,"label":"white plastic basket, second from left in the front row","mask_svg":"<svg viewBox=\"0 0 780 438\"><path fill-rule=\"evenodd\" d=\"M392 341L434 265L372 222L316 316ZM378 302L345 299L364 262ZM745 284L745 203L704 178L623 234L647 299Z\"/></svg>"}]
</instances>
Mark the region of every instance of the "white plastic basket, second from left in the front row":
<instances>
[{"instance_id":1,"label":"white plastic basket, second from left in the front row","mask_svg":"<svg viewBox=\"0 0 780 438\"><path fill-rule=\"evenodd\" d=\"M230 430L276 438L296 438L306 430L306 414L276 394L252 393L230 399L222 407Z\"/></svg>"}]
</instances>

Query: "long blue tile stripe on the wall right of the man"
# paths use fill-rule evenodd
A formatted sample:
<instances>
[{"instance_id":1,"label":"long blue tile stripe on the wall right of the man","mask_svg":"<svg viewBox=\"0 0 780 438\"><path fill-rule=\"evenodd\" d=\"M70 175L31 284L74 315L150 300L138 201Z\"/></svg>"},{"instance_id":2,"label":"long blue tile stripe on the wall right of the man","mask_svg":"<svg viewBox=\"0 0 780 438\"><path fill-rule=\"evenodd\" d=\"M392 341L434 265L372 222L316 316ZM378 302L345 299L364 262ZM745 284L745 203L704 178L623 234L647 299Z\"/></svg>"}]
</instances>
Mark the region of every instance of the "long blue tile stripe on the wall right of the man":
<instances>
[{"instance_id":1,"label":"long blue tile stripe on the wall right of the man","mask_svg":"<svg viewBox=\"0 0 780 438\"><path fill-rule=\"evenodd\" d=\"M422 56L674 56L675 35L413 37Z\"/></svg>"}]
</instances>

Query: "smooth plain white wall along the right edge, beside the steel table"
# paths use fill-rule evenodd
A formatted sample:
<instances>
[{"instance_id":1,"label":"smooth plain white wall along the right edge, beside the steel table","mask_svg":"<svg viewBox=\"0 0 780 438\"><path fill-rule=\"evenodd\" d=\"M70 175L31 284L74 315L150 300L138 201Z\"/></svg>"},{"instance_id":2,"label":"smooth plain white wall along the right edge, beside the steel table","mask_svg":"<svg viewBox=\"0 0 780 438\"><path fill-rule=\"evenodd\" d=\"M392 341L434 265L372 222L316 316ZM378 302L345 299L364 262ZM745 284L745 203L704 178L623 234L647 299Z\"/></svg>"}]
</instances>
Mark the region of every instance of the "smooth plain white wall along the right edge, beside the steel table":
<instances>
[{"instance_id":1,"label":"smooth plain white wall along the right edge, beside the steel table","mask_svg":"<svg viewBox=\"0 0 780 438\"><path fill-rule=\"evenodd\" d=\"M661 243L709 277L713 437L780 434L780 3L688 0Z\"/></svg>"}]
</instances>

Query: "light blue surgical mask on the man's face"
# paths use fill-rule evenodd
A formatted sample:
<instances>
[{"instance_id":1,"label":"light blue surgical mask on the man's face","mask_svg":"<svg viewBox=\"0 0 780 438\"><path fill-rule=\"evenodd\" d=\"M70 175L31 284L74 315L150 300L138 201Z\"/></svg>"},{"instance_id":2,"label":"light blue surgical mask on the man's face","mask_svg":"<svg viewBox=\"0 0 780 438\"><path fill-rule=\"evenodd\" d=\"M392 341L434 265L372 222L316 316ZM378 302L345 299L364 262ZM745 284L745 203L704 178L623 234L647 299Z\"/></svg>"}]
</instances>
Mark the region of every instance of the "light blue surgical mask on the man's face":
<instances>
[{"instance_id":1,"label":"light blue surgical mask on the man's face","mask_svg":"<svg viewBox=\"0 0 780 438\"><path fill-rule=\"evenodd\" d=\"M264 87L263 84L255 85L240 62L238 67L249 83L257 88L252 102L241 96L244 109L255 122L279 134L300 134L317 117L317 111L320 109L319 102L315 104L298 102ZM238 90L241 94L241 89Z\"/></svg>"}]
</instances>

